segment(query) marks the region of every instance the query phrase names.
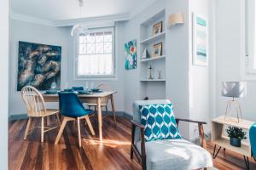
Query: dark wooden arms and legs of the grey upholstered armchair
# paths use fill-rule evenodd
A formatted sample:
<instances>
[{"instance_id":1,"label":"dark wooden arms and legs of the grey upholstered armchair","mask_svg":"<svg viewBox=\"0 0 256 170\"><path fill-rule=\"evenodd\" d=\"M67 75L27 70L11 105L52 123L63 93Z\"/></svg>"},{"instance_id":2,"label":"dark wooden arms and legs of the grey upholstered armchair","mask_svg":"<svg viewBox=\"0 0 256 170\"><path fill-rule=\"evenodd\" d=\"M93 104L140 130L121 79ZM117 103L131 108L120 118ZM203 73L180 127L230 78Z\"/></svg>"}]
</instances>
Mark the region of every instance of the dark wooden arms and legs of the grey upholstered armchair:
<instances>
[{"instance_id":1,"label":"dark wooden arms and legs of the grey upholstered armchair","mask_svg":"<svg viewBox=\"0 0 256 170\"><path fill-rule=\"evenodd\" d=\"M179 122L194 122L198 124L198 130L199 130L199 136L201 138L201 147L204 149L207 149L207 142L205 139L205 133L204 133L204 128L203 124L207 124L207 122L199 122L199 121L192 121L189 119L176 119L177 127ZM141 154L137 149L136 144L134 143L135 141L135 130L136 128L139 128L140 130L140 138L141 138ZM137 156L138 161L142 165L142 169L146 170L146 150L145 150L145 139L144 139L144 126L143 124L135 121L131 121L131 159L133 159L133 153ZM209 169L209 167L205 167L205 169Z\"/></svg>"}]
</instances>

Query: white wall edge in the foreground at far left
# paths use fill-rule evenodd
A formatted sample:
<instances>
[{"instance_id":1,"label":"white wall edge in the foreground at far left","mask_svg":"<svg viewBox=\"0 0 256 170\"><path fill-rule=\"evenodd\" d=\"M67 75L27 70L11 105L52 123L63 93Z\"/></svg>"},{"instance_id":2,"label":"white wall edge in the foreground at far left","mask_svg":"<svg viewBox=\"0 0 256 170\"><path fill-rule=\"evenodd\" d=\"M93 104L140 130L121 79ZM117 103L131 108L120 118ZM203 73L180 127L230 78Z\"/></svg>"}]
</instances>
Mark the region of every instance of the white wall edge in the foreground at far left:
<instances>
[{"instance_id":1,"label":"white wall edge in the foreground at far left","mask_svg":"<svg viewBox=\"0 0 256 170\"><path fill-rule=\"evenodd\" d=\"M8 169L8 95L9 95L9 1L0 1L0 89L1 169Z\"/></svg>"}]
</instances>

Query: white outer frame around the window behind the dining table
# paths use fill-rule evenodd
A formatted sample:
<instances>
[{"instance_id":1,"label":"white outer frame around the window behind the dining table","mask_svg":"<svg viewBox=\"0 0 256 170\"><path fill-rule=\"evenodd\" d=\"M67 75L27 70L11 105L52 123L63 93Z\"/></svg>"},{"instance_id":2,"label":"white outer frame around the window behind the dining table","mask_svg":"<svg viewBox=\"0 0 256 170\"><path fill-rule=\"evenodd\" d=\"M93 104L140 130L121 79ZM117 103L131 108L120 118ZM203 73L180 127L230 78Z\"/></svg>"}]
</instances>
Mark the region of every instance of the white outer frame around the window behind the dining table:
<instances>
[{"instance_id":1,"label":"white outer frame around the window behind the dining table","mask_svg":"<svg viewBox=\"0 0 256 170\"><path fill-rule=\"evenodd\" d=\"M112 62L113 62L113 74L112 75L78 75L78 61L79 61L79 34L74 36L74 57L73 57L73 72L74 72L74 79L75 80L84 80L84 79L114 79L116 77L116 56L115 56L115 27L108 26L102 28L90 28L90 32L96 31L112 31Z\"/></svg>"}]
</instances>

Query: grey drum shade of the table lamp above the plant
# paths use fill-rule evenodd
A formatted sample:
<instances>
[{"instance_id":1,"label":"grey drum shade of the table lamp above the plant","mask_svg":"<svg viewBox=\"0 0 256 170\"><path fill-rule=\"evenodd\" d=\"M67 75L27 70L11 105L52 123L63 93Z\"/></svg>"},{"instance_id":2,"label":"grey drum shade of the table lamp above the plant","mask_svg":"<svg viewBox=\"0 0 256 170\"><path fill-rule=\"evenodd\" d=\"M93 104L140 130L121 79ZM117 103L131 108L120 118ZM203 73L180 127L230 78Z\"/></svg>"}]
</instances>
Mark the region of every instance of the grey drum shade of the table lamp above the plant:
<instances>
[{"instance_id":1,"label":"grey drum shade of the table lamp above the plant","mask_svg":"<svg viewBox=\"0 0 256 170\"><path fill-rule=\"evenodd\" d=\"M244 98L247 95L247 82L222 82L222 96Z\"/></svg>"}]
</instances>

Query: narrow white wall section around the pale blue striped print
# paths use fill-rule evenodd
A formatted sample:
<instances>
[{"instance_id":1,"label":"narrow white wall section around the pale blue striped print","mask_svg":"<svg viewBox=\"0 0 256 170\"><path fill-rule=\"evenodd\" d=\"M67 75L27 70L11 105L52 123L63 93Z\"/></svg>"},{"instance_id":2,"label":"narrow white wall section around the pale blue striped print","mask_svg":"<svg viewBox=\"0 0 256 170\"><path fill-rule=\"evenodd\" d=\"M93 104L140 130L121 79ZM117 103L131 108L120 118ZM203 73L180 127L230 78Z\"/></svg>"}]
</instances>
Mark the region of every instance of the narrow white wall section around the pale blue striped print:
<instances>
[{"instance_id":1,"label":"narrow white wall section around the pale blue striped print","mask_svg":"<svg viewBox=\"0 0 256 170\"><path fill-rule=\"evenodd\" d=\"M202 17L209 19L209 0L189 0L189 118L192 120L207 122L205 130L210 130L210 77L208 66L193 65L193 13L199 14ZM207 25L208 28L212 23ZM211 43L209 41L209 43ZM211 47L211 46L209 46ZM209 51L210 53L211 51ZM212 57L212 54L208 56ZM190 138L198 136L198 125L190 123Z\"/></svg>"}]
</instances>

